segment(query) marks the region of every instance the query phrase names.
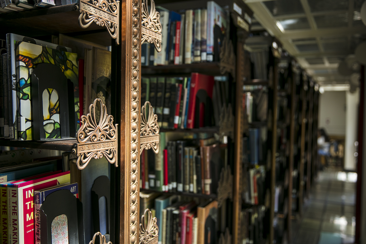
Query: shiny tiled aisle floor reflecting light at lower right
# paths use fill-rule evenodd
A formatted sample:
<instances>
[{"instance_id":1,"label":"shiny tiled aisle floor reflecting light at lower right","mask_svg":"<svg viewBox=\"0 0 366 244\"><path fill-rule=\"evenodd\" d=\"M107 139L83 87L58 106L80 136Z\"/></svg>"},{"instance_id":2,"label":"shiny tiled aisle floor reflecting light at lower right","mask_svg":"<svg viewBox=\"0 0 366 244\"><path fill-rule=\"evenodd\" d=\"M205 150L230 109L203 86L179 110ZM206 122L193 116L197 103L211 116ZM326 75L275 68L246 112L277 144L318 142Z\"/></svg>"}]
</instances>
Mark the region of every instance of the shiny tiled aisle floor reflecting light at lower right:
<instances>
[{"instance_id":1,"label":"shiny tiled aisle floor reflecting light at lower right","mask_svg":"<svg viewBox=\"0 0 366 244\"><path fill-rule=\"evenodd\" d=\"M293 221L292 244L351 244L355 235L356 173L325 170Z\"/></svg>"}]
</instances>

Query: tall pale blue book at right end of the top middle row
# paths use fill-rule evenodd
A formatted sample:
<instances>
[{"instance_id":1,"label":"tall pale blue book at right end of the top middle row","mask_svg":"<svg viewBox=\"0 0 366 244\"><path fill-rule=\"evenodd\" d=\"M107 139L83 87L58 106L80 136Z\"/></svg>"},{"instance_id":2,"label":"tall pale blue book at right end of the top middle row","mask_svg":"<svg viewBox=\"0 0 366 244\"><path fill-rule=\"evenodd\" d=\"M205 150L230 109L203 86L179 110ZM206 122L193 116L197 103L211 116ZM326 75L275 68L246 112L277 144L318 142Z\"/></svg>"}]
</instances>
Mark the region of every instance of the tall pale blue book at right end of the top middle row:
<instances>
[{"instance_id":1,"label":"tall pale blue book at right end of the top middle row","mask_svg":"<svg viewBox=\"0 0 366 244\"><path fill-rule=\"evenodd\" d=\"M214 1L207 2L207 26L207 61L218 62L228 23L225 11Z\"/></svg>"}]
</instances>

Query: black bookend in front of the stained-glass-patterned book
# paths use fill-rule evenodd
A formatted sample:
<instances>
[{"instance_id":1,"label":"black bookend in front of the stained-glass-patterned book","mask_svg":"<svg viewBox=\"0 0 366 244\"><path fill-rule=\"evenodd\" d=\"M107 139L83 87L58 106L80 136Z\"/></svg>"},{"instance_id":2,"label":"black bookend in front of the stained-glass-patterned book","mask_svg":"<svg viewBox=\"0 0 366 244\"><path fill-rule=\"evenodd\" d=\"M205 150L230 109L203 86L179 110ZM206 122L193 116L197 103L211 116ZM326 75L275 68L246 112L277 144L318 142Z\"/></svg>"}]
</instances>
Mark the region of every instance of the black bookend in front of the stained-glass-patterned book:
<instances>
[{"instance_id":1,"label":"black bookend in front of the stained-glass-patterned book","mask_svg":"<svg viewBox=\"0 0 366 244\"><path fill-rule=\"evenodd\" d=\"M31 84L34 140L75 137L74 102L72 106L69 104L71 99L74 101L74 91L69 88L71 84L60 67L50 63L38 64L31 74Z\"/></svg>"}]
</instances>

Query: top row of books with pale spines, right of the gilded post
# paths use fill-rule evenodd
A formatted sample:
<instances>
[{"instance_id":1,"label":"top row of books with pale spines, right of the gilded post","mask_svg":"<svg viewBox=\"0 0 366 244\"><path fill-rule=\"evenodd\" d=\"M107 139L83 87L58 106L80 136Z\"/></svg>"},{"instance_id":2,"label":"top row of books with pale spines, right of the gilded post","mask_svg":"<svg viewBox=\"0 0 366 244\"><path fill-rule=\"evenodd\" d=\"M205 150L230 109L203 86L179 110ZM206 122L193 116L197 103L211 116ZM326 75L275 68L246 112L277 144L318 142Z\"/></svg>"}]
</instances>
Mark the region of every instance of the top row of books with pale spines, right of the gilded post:
<instances>
[{"instance_id":1,"label":"top row of books with pale spines, right of the gilded post","mask_svg":"<svg viewBox=\"0 0 366 244\"><path fill-rule=\"evenodd\" d=\"M208 1L207 8L185 10L182 14L160 6L157 6L156 10L160 13L161 52L154 51L149 44L143 44L142 65L190 64L220 60L220 48L229 33L227 10L214 1Z\"/></svg>"}]
</instances>

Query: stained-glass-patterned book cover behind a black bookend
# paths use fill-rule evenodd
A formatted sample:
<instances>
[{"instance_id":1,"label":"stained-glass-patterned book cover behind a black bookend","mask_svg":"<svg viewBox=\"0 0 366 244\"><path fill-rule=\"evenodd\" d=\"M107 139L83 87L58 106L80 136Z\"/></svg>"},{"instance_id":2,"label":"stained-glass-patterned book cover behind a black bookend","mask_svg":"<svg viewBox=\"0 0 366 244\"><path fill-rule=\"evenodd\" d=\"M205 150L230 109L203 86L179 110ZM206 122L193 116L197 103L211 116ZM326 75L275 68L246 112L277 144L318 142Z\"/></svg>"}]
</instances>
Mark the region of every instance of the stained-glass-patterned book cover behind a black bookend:
<instances>
[{"instance_id":1,"label":"stained-glass-patterned book cover behind a black bookend","mask_svg":"<svg viewBox=\"0 0 366 244\"><path fill-rule=\"evenodd\" d=\"M77 54L43 47L26 41L16 42L16 90L18 106L19 140L33 138L33 108L31 96L31 73L39 63L52 63L60 67L65 76L74 84L75 126L79 127L79 76ZM44 100L48 110L43 112L46 138L61 138L59 96L56 90L46 89ZM50 121L52 123L50 123ZM50 126L51 125L51 126ZM73 135L70 135L73 136Z\"/></svg>"}]
</instances>

